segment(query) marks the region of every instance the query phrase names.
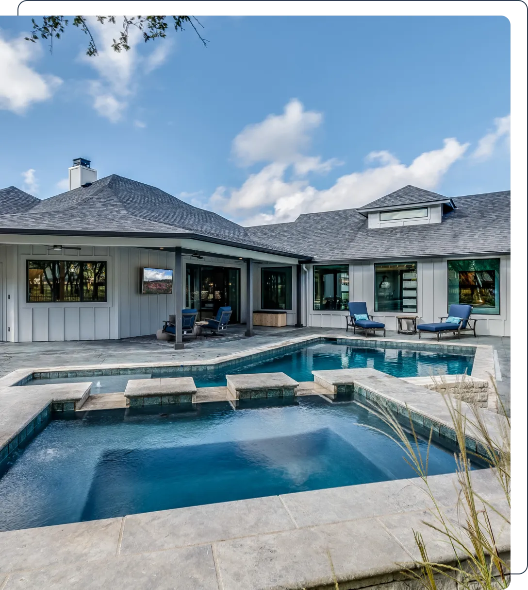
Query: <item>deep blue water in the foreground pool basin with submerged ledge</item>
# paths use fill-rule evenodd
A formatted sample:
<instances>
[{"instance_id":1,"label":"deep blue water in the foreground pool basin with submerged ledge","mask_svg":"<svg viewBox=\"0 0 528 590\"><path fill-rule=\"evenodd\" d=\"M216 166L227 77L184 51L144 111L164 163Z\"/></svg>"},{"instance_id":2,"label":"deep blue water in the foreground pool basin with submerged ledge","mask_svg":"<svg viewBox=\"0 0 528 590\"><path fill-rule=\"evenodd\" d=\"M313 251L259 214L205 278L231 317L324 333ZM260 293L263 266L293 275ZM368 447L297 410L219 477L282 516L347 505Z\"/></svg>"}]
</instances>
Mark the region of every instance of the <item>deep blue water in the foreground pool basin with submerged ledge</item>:
<instances>
[{"instance_id":1,"label":"deep blue water in the foreground pool basin with submerged ledge","mask_svg":"<svg viewBox=\"0 0 528 590\"><path fill-rule=\"evenodd\" d=\"M355 402L275 404L53 414L0 479L0 530L417 477ZM452 451L431 447L429 473L454 470Z\"/></svg>"}]
</instances>

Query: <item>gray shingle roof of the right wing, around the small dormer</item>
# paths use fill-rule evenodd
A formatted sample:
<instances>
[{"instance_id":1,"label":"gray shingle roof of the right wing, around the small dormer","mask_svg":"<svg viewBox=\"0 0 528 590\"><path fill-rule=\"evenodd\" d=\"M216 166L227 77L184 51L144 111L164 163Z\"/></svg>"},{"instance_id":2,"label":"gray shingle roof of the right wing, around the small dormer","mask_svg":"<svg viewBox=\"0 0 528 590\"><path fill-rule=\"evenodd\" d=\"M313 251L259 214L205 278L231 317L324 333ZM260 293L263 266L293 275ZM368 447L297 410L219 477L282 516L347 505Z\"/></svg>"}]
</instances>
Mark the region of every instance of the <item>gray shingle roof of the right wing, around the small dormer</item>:
<instances>
[{"instance_id":1,"label":"gray shingle roof of the right wing, around the small dormer","mask_svg":"<svg viewBox=\"0 0 528 590\"><path fill-rule=\"evenodd\" d=\"M369 230L368 219L357 209L344 209L303 214L291 223L248 231L257 240L319 261L510 251L511 191L453 199L457 209L444 214L438 224Z\"/></svg>"}]
</instances>

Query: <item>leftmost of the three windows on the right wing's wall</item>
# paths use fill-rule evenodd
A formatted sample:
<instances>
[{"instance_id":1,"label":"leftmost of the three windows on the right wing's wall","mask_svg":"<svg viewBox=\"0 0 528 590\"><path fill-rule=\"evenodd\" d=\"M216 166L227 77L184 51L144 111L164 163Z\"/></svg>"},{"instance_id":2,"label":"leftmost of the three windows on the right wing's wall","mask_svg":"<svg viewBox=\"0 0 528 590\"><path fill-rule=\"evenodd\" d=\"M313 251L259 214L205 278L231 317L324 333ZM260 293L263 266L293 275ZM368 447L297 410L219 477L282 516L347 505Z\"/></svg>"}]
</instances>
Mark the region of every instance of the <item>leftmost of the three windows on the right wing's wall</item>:
<instances>
[{"instance_id":1,"label":"leftmost of the three windows on the right wing's wall","mask_svg":"<svg viewBox=\"0 0 528 590\"><path fill-rule=\"evenodd\" d=\"M314 310L348 309L348 264L314 266Z\"/></svg>"}]
</instances>

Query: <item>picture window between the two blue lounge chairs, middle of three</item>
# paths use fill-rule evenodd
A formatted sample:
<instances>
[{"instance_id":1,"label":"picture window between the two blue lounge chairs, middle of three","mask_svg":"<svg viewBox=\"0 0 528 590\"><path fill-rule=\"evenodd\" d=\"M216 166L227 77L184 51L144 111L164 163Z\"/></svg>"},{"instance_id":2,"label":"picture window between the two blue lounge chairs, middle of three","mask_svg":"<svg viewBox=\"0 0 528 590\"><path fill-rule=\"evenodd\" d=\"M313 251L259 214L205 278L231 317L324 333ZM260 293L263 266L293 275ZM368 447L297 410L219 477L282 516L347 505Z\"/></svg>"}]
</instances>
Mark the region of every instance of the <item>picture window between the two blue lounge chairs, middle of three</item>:
<instances>
[{"instance_id":1,"label":"picture window between the two blue lounge chairs, middle of three","mask_svg":"<svg viewBox=\"0 0 528 590\"><path fill-rule=\"evenodd\" d=\"M417 313L417 264L375 264L374 310Z\"/></svg>"}]
</instances>

